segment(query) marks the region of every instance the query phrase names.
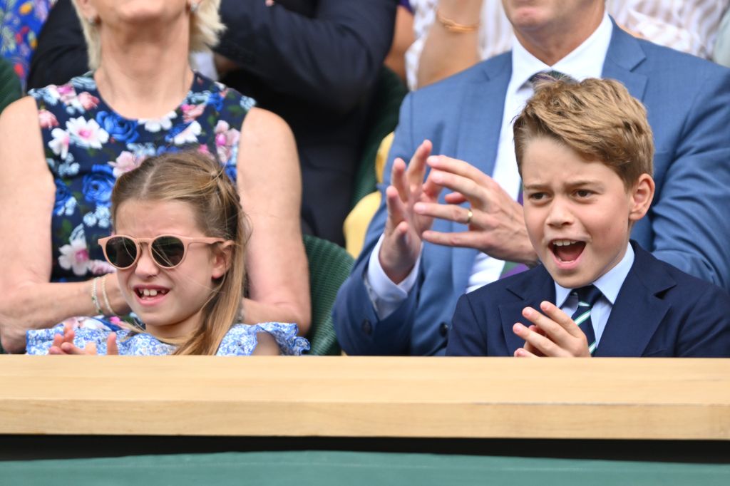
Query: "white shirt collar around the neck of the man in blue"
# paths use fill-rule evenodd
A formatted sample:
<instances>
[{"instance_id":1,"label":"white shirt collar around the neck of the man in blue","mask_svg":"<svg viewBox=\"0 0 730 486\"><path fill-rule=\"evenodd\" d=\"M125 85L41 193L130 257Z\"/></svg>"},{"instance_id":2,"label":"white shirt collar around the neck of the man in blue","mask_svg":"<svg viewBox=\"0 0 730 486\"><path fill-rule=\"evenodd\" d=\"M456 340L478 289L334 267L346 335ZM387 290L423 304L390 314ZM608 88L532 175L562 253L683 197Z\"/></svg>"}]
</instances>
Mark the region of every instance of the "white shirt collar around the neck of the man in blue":
<instances>
[{"instance_id":1,"label":"white shirt collar around the neck of the man in blue","mask_svg":"<svg viewBox=\"0 0 730 486\"><path fill-rule=\"evenodd\" d=\"M611 43L613 23L607 13L593 34L553 66L548 66L520 44L512 34L512 80L510 89L518 90L530 77L542 71L555 70L582 81L588 77L601 77L603 63Z\"/></svg>"}]
</instances>

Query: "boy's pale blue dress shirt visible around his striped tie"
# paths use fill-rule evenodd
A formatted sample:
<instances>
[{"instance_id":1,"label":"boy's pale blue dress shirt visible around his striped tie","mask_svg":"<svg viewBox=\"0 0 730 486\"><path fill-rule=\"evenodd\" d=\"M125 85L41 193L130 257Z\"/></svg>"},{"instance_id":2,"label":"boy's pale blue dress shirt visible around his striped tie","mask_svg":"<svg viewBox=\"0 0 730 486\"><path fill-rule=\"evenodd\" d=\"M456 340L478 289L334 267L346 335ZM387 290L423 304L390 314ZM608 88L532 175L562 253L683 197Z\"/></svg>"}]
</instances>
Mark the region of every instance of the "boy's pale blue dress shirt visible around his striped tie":
<instances>
[{"instance_id":1,"label":"boy's pale blue dress shirt visible around his striped tie","mask_svg":"<svg viewBox=\"0 0 730 486\"><path fill-rule=\"evenodd\" d=\"M593 324L593 333L596 334L596 346L601 342L601 336L603 336L608 317L611 315L611 309L616 301L616 297L618 297L618 291L621 290L621 285L626 280L626 275L629 274L629 270L631 270L631 265L633 264L634 249L629 244L621 261L599 277L599 279L596 279L596 282L593 282L593 285L598 290L601 290L603 294L591 308L591 323ZM577 296L570 295L572 290L571 288L561 287L557 283L555 284L556 306L560 307L569 316L573 315L578 308Z\"/></svg>"}]
</instances>

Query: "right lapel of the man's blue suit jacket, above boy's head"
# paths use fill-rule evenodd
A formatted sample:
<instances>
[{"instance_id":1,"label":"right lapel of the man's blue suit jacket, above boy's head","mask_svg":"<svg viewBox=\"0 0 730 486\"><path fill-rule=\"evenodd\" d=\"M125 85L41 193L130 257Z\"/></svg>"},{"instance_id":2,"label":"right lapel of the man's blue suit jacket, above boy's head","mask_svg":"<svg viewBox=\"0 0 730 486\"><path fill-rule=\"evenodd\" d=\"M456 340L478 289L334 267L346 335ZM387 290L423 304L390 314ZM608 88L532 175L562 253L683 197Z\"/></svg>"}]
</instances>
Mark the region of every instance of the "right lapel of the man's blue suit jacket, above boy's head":
<instances>
[{"instance_id":1,"label":"right lapel of the man's blue suit jacket, above boy's head","mask_svg":"<svg viewBox=\"0 0 730 486\"><path fill-rule=\"evenodd\" d=\"M611 20L613 32L603 63L602 76L621 81L631 96L643 100L647 77L634 72L634 69L645 60L646 55L639 41L619 28L613 19Z\"/></svg>"}]
</instances>

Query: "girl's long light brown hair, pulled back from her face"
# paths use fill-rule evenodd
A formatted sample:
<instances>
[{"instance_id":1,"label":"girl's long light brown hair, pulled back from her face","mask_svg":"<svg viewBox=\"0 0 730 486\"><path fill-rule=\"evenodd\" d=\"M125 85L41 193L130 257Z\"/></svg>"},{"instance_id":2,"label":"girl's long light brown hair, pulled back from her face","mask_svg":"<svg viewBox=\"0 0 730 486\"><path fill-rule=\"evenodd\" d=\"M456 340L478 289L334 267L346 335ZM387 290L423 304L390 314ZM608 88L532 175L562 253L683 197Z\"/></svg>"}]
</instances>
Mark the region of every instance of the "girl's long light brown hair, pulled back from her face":
<instances>
[{"instance_id":1,"label":"girl's long light brown hair, pulled back from her face","mask_svg":"<svg viewBox=\"0 0 730 486\"><path fill-rule=\"evenodd\" d=\"M203 307L203 322L178 344L177 355L215 355L237 317L245 282L245 215L236 189L220 163L210 155L190 151L147 158L122 174L112 190L112 220L129 200L181 201L195 214L205 236L234 242L228 271L218 279Z\"/></svg>"}]
</instances>

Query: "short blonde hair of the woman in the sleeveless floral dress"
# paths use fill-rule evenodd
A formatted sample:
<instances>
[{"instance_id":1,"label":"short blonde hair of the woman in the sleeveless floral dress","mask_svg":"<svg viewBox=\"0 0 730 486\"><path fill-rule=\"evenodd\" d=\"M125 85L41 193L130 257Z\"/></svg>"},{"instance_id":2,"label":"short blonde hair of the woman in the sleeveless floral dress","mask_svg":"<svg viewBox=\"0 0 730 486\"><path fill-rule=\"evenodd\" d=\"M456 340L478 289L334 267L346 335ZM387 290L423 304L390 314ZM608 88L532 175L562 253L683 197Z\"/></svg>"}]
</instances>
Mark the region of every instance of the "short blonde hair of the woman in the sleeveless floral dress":
<instances>
[{"instance_id":1,"label":"short blonde hair of the woman in the sleeveless floral dress","mask_svg":"<svg viewBox=\"0 0 730 486\"><path fill-rule=\"evenodd\" d=\"M86 39L89 69L98 69L101 64L101 43L99 26L81 15L77 0L72 0ZM198 8L190 15L190 52L206 52L218 44L218 36L226 29L220 21L218 8L220 0L200 0Z\"/></svg>"}]
</instances>

